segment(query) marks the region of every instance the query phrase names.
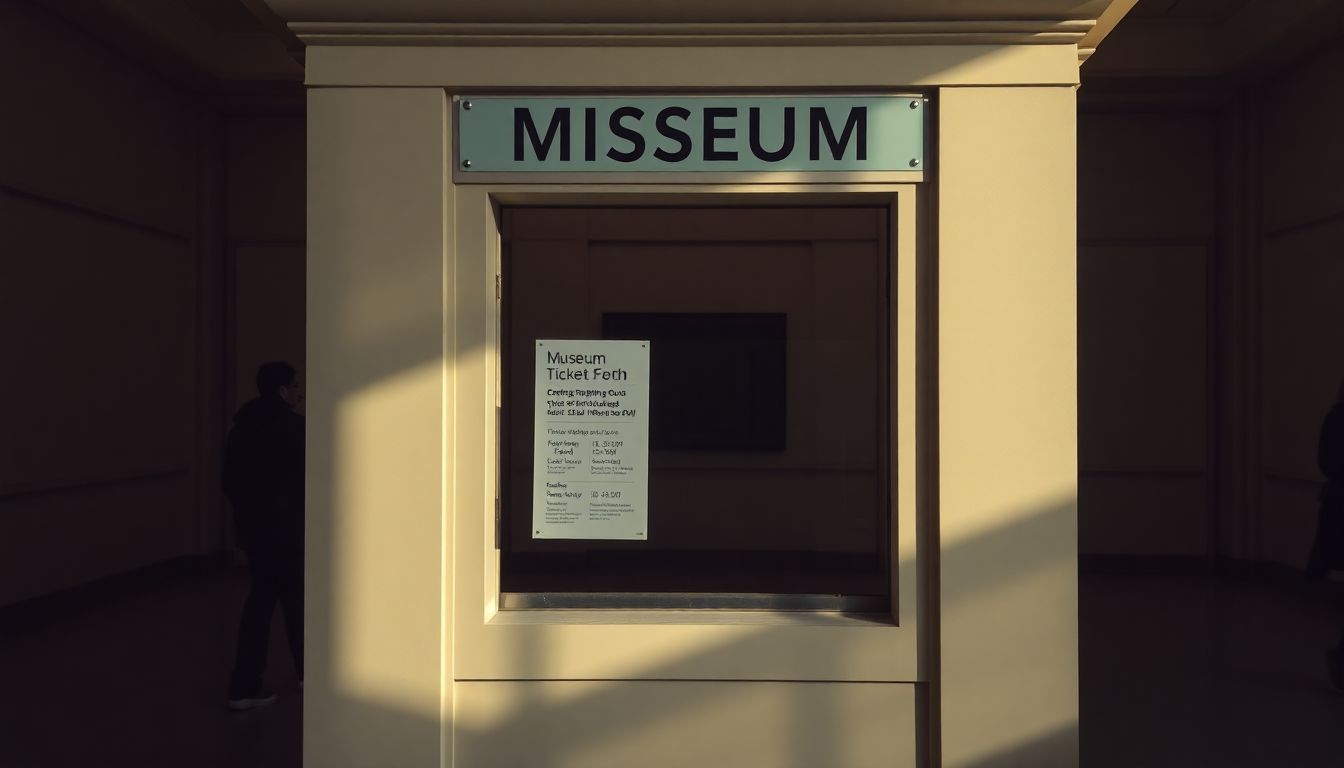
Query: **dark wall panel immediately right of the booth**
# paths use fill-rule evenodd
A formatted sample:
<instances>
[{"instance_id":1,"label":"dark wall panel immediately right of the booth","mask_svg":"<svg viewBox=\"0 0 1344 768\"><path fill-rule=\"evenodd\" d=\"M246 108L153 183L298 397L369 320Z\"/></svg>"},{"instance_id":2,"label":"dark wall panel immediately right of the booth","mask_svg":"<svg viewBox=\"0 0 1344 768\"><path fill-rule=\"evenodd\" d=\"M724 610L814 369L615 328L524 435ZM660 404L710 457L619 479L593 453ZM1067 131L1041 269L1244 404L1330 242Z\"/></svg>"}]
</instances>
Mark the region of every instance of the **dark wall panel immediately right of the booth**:
<instances>
[{"instance_id":1,"label":"dark wall panel immediately right of the booth","mask_svg":"<svg viewBox=\"0 0 1344 768\"><path fill-rule=\"evenodd\" d=\"M1079 116L1079 551L1086 554L1210 549L1215 128L1215 116L1198 108L1085 108Z\"/></svg>"}]
</instances>

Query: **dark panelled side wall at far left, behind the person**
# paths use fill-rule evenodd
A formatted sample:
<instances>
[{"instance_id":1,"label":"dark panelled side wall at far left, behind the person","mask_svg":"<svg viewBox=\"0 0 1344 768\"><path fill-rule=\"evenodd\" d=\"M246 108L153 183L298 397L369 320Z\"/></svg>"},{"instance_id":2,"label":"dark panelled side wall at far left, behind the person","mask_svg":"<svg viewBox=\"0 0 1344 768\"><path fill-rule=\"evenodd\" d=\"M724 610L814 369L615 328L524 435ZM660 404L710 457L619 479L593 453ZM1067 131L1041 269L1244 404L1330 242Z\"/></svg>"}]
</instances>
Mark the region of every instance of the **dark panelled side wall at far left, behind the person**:
<instances>
[{"instance_id":1,"label":"dark panelled side wall at far left, behind the person","mask_svg":"<svg viewBox=\"0 0 1344 768\"><path fill-rule=\"evenodd\" d=\"M0 93L4 605L218 546L220 371L214 114L28 3Z\"/></svg>"}]
</instances>

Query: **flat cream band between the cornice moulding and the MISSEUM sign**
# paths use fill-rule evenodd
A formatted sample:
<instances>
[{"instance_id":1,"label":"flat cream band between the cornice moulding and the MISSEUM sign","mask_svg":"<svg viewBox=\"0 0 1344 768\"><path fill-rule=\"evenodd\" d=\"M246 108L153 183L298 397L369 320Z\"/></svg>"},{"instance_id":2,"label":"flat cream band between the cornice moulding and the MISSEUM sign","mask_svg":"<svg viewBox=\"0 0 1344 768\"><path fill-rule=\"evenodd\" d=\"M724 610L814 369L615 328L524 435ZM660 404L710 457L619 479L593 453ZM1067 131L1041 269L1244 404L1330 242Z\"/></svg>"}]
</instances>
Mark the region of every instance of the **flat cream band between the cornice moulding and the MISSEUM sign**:
<instances>
[{"instance_id":1,"label":"flat cream band between the cornice moulding and the MISSEUM sign","mask_svg":"<svg viewBox=\"0 0 1344 768\"><path fill-rule=\"evenodd\" d=\"M491 93L1078 85L1075 46L310 46L306 83Z\"/></svg>"}]
</instances>

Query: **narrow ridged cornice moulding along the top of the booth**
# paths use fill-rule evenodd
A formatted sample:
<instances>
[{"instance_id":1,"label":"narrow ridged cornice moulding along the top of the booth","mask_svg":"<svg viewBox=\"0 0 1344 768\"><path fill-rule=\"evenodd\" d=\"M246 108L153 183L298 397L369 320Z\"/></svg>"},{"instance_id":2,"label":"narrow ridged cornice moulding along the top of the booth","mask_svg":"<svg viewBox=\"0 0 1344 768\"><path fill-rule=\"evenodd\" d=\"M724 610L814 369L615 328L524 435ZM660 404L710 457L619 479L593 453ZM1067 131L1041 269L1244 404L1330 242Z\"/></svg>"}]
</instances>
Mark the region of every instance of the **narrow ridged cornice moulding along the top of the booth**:
<instances>
[{"instance_id":1,"label":"narrow ridged cornice moulding along the top of the booth","mask_svg":"<svg viewBox=\"0 0 1344 768\"><path fill-rule=\"evenodd\" d=\"M891 46L1075 44L1079 20L820 24L444 24L298 22L309 46Z\"/></svg>"}]
</instances>

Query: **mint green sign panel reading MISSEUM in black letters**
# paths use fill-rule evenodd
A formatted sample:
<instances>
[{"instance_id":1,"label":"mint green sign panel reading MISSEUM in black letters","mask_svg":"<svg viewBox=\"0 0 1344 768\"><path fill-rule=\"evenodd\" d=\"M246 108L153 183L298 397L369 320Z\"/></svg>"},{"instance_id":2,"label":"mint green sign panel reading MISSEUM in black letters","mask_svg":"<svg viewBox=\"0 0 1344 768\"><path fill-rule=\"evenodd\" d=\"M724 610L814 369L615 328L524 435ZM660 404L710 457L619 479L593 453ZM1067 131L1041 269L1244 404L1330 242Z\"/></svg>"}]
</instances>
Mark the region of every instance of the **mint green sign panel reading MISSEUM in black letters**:
<instances>
[{"instance_id":1,"label":"mint green sign panel reading MISSEUM in black letters","mask_svg":"<svg viewBox=\"0 0 1344 768\"><path fill-rule=\"evenodd\" d=\"M919 97L457 100L457 167L491 172L921 171Z\"/></svg>"}]
</instances>

